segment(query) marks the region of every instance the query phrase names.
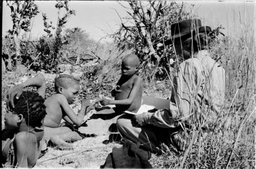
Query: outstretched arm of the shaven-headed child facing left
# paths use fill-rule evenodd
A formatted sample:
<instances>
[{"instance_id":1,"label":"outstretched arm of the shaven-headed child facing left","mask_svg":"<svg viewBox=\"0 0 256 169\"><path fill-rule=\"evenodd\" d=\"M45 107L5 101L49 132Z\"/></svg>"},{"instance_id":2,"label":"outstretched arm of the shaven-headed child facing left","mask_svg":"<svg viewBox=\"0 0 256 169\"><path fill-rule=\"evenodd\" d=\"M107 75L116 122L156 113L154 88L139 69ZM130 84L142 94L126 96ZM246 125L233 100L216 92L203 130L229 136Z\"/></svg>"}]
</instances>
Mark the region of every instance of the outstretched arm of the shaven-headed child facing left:
<instances>
[{"instance_id":1,"label":"outstretched arm of the shaven-headed child facing left","mask_svg":"<svg viewBox=\"0 0 256 169\"><path fill-rule=\"evenodd\" d=\"M134 101L135 96L140 89L140 86L141 86L141 79L139 77L137 77L134 79L134 85L133 85L132 91L127 99L109 100L109 99L102 98L102 99L100 99L100 104L102 104L102 105L108 105L108 104L130 105Z\"/></svg>"}]
</instances>

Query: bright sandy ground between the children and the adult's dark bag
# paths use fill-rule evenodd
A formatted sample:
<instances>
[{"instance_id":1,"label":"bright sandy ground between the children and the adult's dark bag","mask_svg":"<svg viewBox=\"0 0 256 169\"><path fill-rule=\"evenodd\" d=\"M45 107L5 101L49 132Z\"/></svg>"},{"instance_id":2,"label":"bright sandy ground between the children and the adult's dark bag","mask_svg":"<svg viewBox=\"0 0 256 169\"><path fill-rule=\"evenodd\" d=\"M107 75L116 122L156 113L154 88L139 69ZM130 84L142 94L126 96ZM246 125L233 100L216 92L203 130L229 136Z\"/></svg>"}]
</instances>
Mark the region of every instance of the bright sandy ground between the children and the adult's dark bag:
<instances>
[{"instance_id":1,"label":"bright sandy ground between the children and the adult's dark bag","mask_svg":"<svg viewBox=\"0 0 256 169\"><path fill-rule=\"evenodd\" d=\"M86 137L74 142L74 150L61 151L48 147L47 153L38 159L35 167L99 168L100 165L104 164L106 156L112 151L112 148L122 146L110 138L110 135L117 135L117 133L109 131L110 126L116 123L120 115L111 116L111 119L108 119L108 115L99 118L93 115L94 112L95 110L85 117L85 120L88 118L86 122L88 126L80 127L78 131L97 136Z\"/></svg>"}]
</instances>

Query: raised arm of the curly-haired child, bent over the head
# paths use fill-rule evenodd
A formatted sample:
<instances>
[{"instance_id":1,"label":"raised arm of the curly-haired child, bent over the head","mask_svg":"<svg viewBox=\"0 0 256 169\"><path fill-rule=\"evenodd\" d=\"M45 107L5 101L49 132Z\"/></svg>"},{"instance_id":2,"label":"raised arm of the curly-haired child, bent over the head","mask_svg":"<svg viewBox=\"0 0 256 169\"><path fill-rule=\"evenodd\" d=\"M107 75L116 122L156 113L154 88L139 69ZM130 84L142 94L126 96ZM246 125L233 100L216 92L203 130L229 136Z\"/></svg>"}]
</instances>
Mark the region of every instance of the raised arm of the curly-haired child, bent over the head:
<instances>
[{"instance_id":1,"label":"raised arm of the curly-haired child, bent over the head","mask_svg":"<svg viewBox=\"0 0 256 169\"><path fill-rule=\"evenodd\" d=\"M42 74L38 74L33 78L30 78L28 80L26 80L23 83L20 83L16 86L14 86L14 88L8 92L7 95L7 103L10 103L12 107L14 107L14 103L13 103L13 99L14 97L16 97L16 99L19 98L19 96L22 94L22 90L25 87L29 87L29 86L35 86L37 88L37 93L42 96L42 98L45 98L45 93L46 93L46 80L44 75ZM9 104L7 104L8 108Z\"/></svg>"}]
</instances>

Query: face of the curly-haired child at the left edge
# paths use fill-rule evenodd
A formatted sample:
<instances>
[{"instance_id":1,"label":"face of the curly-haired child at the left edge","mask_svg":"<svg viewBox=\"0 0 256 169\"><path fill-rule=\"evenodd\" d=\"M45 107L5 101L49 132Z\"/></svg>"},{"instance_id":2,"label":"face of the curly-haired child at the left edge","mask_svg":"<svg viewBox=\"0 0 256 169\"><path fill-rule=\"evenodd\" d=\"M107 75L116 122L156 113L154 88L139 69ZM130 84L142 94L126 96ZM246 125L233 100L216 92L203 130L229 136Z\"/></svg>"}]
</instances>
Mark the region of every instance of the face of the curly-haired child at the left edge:
<instances>
[{"instance_id":1,"label":"face of the curly-haired child at the left edge","mask_svg":"<svg viewBox=\"0 0 256 169\"><path fill-rule=\"evenodd\" d=\"M13 111L9 111L6 109L5 114L5 129L17 129L18 128L18 115L14 114Z\"/></svg>"}]
</instances>

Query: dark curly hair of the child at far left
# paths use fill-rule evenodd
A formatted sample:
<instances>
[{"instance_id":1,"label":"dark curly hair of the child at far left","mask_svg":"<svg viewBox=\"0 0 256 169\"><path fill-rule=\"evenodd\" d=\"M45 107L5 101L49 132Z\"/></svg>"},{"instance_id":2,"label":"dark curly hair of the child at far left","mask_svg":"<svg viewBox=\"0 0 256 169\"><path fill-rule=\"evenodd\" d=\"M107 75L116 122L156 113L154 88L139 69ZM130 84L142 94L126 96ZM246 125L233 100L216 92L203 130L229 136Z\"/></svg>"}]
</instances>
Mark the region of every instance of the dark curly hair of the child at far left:
<instances>
[{"instance_id":1,"label":"dark curly hair of the child at far left","mask_svg":"<svg viewBox=\"0 0 256 169\"><path fill-rule=\"evenodd\" d=\"M24 91L19 99L14 99L14 114L22 114L26 124L33 128L42 126L46 116L45 99L36 92Z\"/></svg>"}]
</instances>

